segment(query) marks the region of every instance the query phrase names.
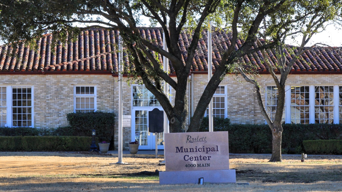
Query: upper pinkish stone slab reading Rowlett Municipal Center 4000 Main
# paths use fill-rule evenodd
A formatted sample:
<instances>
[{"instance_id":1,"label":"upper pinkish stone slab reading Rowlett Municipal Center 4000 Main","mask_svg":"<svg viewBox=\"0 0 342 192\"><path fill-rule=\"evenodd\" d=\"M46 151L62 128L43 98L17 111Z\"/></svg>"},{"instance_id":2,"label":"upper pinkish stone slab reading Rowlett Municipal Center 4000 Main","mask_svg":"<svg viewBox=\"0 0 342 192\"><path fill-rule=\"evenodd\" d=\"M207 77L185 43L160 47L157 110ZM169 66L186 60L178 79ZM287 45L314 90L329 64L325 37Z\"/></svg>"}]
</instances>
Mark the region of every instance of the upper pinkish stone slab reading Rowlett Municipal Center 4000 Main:
<instances>
[{"instance_id":1,"label":"upper pinkish stone slab reading Rowlett Municipal Center 4000 Main","mask_svg":"<svg viewBox=\"0 0 342 192\"><path fill-rule=\"evenodd\" d=\"M228 132L165 134L165 143L167 171L229 169Z\"/></svg>"}]
</instances>

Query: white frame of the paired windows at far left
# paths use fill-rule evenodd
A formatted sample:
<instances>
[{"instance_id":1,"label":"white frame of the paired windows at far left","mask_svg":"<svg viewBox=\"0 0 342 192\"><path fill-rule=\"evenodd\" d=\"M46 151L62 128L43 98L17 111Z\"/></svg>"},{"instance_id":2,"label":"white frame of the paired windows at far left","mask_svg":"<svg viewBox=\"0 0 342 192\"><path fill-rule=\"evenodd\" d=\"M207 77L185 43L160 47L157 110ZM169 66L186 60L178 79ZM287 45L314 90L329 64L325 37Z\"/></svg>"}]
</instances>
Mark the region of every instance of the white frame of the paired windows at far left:
<instances>
[{"instance_id":1,"label":"white frame of the paired windows at far left","mask_svg":"<svg viewBox=\"0 0 342 192\"><path fill-rule=\"evenodd\" d=\"M6 87L6 124L7 127L13 127L13 114L12 114L12 90L14 87L30 87L31 88L31 126L28 127L34 127L34 86L33 85L0 85L0 87Z\"/></svg>"}]
</instances>

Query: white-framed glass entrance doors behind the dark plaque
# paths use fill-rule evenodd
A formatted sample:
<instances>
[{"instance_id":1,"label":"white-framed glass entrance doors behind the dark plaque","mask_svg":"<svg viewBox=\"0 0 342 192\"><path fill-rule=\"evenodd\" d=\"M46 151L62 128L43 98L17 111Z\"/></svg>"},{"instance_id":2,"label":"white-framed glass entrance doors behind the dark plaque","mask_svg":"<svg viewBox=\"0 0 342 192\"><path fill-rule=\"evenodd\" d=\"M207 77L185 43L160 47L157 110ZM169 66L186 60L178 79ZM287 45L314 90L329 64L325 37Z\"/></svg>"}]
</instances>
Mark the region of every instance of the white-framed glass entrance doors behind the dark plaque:
<instances>
[{"instance_id":1,"label":"white-framed glass entrance doors behind the dark plaque","mask_svg":"<svg viewBox=\"0 0 342 192\"><path fill-rule=\"evenodd\" d=\"M154 133L148 132L148 111L154 108L162 110L161 107L144 107L133 108L132 110L132 141L139 141L139 149L153 150L156 149L156 136ZM158 149L164 149L163 133L157 134Z\"/></svg>"}]
</instances>

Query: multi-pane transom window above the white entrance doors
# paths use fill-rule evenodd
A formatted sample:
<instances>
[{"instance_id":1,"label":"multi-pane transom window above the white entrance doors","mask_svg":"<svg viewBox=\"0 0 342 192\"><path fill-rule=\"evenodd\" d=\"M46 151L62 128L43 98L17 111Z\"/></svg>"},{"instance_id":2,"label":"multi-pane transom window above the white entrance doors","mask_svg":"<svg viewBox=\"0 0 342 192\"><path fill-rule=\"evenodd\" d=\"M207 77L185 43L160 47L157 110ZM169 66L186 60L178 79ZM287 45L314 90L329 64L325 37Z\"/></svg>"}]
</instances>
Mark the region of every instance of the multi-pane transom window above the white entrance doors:
<instances>
[{"instance_id":1,"label":"multi-pane transom window above the white entrance doors","mask_svg":"<svg viewBox=\"0 0 342 192\"><path fill-rule=\"evenodd\" d=\"M133 86L133 107L160 106L157 98L145 86Z\"/></svg>"}]
</instances>

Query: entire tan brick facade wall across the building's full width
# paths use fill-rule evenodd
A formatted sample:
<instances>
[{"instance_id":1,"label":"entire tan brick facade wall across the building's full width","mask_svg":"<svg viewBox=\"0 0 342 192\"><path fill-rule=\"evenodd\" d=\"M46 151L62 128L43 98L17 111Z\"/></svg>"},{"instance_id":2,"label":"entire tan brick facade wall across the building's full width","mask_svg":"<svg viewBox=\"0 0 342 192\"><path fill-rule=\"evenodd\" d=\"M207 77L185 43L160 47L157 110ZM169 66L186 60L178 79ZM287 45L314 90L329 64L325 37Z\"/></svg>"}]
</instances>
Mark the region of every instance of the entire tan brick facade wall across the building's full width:
<instances>
[{"instance_id":1,"label":"entire tan brick facade wall across the building's full width","mask_svg":"<svg viewBox=\"0 0 342 192\"><path fill-rule=\"evenodd\" d=\"M260 114L260 109L253 93L253 86L235 79L236 76L228 75L220 85L227 86L227 118L232 123L263 124L265 120ZM302 74L289 75L288 85L342 85L341 76L338 74ZM263 75L257 80L261 86L274 85L271 76ZM188 97L194 100L194 107L206 86L207 75L194 75L194 96ZM39 128L52 128L66 126L66 114L74 111L74 86L96 85L97 111L114 112L118 114L118 82L117 77L108 74L44 74L44 75L1 75L0 85L32 85L34 87L34 126ZM132 87L123 81L123 115L132 114ZM187 90L188 93L188 90ZM264 95L264 93L263 93ZM174 104L174 90L171 91L171 101ZM264 96L263 96L264 98ZM191 100L190 100L191 101ZM190 102L191 104L191 102ZM190 112L190 111L189 111ZM118 116L116 116L118 118ZM115 122L115 149L118 146L118 121ZM187 117L187 123L189 119ZM128 149L131 141L132 128L123 129L123 148Z\"/></svg>"}]
</instances>

